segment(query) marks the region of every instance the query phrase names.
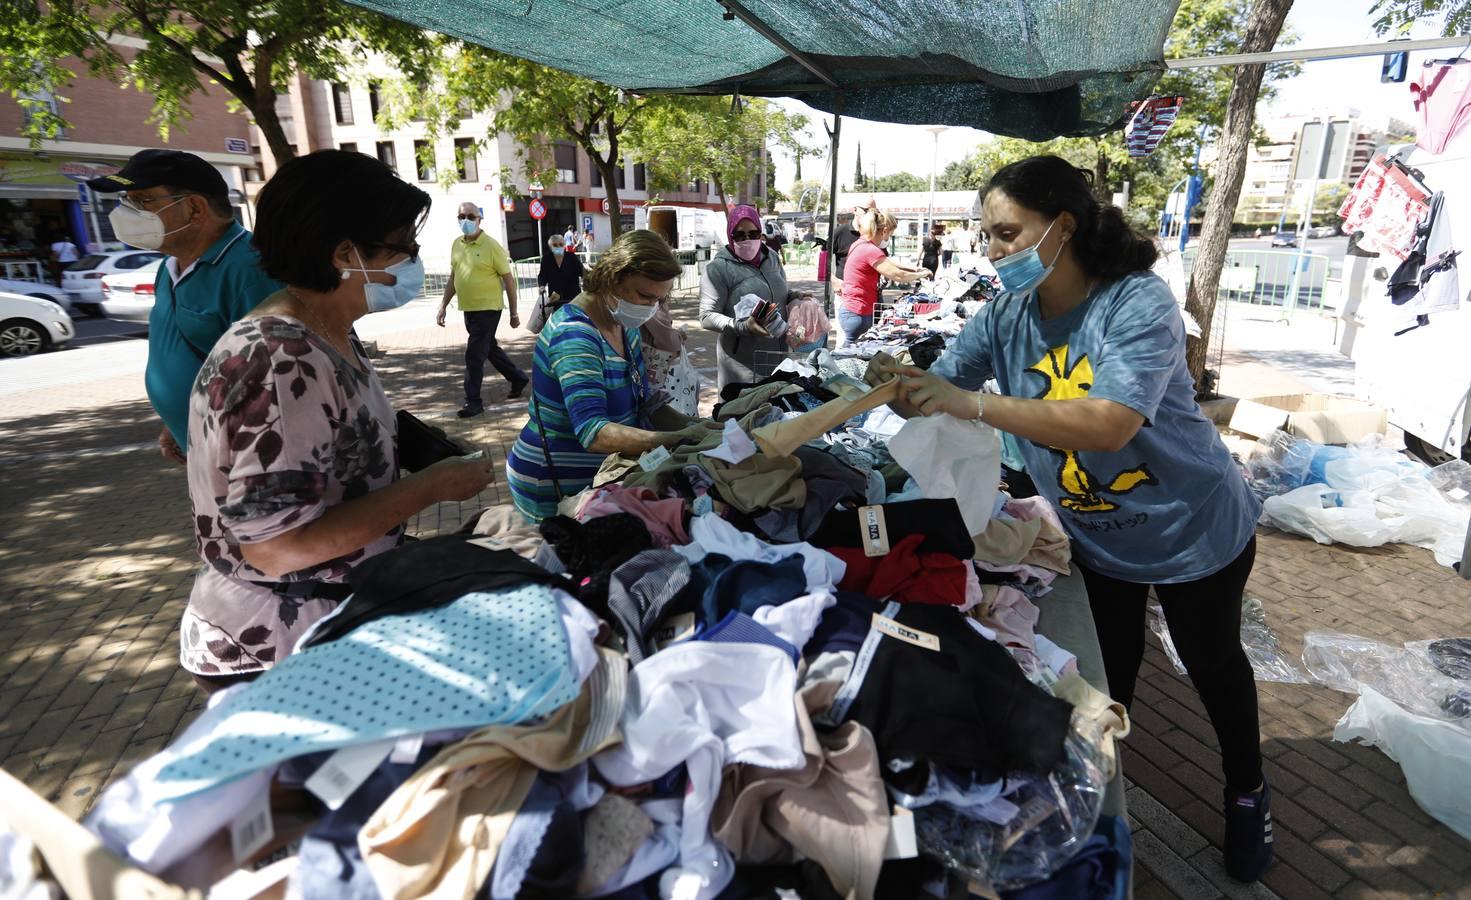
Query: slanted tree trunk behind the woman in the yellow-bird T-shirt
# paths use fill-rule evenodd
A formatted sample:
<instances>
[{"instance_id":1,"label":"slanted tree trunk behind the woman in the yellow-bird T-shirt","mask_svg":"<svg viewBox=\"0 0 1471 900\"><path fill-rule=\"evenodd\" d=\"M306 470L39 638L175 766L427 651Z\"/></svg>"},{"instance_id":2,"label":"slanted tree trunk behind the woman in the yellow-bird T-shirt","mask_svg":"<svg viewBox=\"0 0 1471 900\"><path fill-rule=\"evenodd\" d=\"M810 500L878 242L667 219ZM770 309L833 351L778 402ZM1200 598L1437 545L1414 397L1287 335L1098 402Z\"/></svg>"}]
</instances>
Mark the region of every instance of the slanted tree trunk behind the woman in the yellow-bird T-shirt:
<instances>
[{"instance_id":1,"label":"slanted tree trunk behind the woman in the yellow-bird T-shirt","mask_svg":"<svg viewBox=\"0 0 1471 900\"><path fill-rule=\"evenodd\" d=\"M1283 22L1292 0L1255 0L1246 19L1246 40L1240 53L1265 53L1277 44ZM1256 122L1256 99L1262 90L1262 63L1236 68L1231 79L1231 97L1225 107L1225 126L1221 129L1219 157L1215 163L1215 185L1206 204L1205 221L1200 225L1200 250L1196 253L1190 284L1186 288L1186 312L1200 324L1200 337L1186 340L1186 362L1196 387L1205 384L1205 363L1211 349L1211 319L1215 316L1217 290L1221 284L1221 269L1225 266L1225 247L1231 238L1231 222L1236 204L1242 197L1242 181L1246 178L1246 154L1252 146L1252 126ZM1186 226L1189 228L1189 222Z\"/></svg>"}]
</instances>

